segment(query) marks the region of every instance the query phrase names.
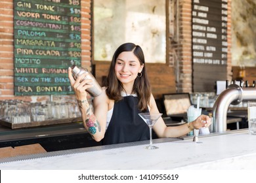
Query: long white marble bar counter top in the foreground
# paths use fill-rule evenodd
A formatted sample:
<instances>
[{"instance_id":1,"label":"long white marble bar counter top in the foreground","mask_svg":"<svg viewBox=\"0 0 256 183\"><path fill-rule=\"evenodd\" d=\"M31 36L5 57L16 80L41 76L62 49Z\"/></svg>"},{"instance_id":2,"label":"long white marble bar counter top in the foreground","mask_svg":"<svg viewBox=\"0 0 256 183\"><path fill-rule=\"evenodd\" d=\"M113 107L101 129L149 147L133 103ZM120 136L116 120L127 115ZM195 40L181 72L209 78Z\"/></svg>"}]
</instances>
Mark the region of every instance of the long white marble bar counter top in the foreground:
<instances>
[{"instance_id":1,"label":"long white marble bar counter top in the foreground","mask_svg":"<svg viewBox=\"0 0 256 183\"><path fill-rule=\"evenodd\" d=\"M62 150L0 159L0 169L256 169L256 135L247 130L192 138L148 141Z\"/></svg>"}]
</instances>

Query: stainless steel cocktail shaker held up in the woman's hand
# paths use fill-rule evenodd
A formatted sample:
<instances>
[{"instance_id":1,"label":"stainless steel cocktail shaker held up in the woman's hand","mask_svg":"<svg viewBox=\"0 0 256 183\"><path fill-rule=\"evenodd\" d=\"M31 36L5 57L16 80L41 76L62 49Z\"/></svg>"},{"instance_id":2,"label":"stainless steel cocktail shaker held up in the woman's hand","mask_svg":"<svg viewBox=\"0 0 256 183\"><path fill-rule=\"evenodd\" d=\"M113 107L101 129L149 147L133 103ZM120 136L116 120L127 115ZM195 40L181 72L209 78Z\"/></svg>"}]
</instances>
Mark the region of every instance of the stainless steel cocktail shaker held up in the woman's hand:
<instances>
[{"instance_id":1,"label":"stainless steel cocktail shaker held up in the woman's hand","mask_svg":"<svg viewBox=\"0 0 256 183\"><path fill-rule=\"evenodd\" d=\"M91 95L93 95L94 97L100 95L100 93L102 92L102 88L100 87L100 84L98 84L98 82L96 81L95 77L91 74L91 72L89 72L87 69L84 69L82 67L79 68L76 65L73 65L71 69L72 69L72 75L75 80L78 76L82 75L83 73L88 73L88 75L86 75L85 78L81 80L81 82L85 79L93 80L92 82L93 87L88 88L86 91Z\"/></svg>"}]
</instances>

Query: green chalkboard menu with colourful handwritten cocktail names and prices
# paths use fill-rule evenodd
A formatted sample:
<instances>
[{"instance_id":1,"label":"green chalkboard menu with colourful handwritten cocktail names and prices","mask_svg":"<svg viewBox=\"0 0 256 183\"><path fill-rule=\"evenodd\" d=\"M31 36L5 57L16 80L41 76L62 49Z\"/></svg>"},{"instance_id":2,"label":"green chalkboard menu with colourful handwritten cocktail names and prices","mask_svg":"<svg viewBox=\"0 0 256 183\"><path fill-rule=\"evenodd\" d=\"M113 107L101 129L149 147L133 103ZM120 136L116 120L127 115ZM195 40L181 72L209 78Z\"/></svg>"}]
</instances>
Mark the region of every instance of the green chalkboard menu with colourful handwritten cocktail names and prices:
<instances>
[{"instance_id":1,"label":"green chalkboard menu with colourful handwritten cocktail names and prices","mask_svg":"<svg viewBox=\"0 0 256 183\"><path fill-rule=\"evenodd\" d=\"M68 67L81 65L79 0L14 0L14 94L74 93Z\"/></svg>"}]
</instances>

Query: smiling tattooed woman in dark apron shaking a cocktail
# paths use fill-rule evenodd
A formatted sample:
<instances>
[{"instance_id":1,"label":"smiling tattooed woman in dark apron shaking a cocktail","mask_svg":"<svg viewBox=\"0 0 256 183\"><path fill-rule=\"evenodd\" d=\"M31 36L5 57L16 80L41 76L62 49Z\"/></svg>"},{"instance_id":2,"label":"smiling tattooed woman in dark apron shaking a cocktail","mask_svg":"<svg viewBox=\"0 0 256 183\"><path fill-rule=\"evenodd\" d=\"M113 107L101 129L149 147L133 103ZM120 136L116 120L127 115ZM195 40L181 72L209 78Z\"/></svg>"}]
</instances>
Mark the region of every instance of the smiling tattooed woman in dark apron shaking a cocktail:
<instances>
[{"instance_id":1,"label":"smiling tattooed woman in dark apron shaking a cocktail","mask_svg":"<svg viewBox=\"0 0 256 183\"><path fill-rule=\"evenodd\" d=\"M110 65L106 87L95 97L94 111L87 101L87 88L91 80L86 76L68 76L81 110L85 129L95 141L103 144L142 141L150 139L148 125L140 118L140 112L157 113L158 107L150 90L146 73L144 54L140 46L125 43L117 48ZM206 122L206 124L205 124ZM201 115L194 122L167 127L160 118L153 129L158 137L180 137L192 129L200 129L211 124L209 116Z\"/></svg>"}]
</instances>

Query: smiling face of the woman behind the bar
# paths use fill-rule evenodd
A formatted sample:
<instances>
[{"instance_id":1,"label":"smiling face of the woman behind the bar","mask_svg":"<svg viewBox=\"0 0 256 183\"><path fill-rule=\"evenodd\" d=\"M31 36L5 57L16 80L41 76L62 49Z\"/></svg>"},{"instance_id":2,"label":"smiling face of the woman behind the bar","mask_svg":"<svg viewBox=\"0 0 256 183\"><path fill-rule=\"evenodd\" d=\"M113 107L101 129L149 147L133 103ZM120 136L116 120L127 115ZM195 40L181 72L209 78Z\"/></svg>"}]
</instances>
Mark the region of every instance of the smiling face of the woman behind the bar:
<instances>
[{"instance_id":1,"label":"smiling face of the woman behind the bar","mask_svg":"<svg viewBox=\"0 0 256 183\"><path fill-rule=\"evenodd\" d=\"M117 79L123 84L133 84L143 66L133 52L121 52L115 65Z\"/></svg>"}]
</instances>

